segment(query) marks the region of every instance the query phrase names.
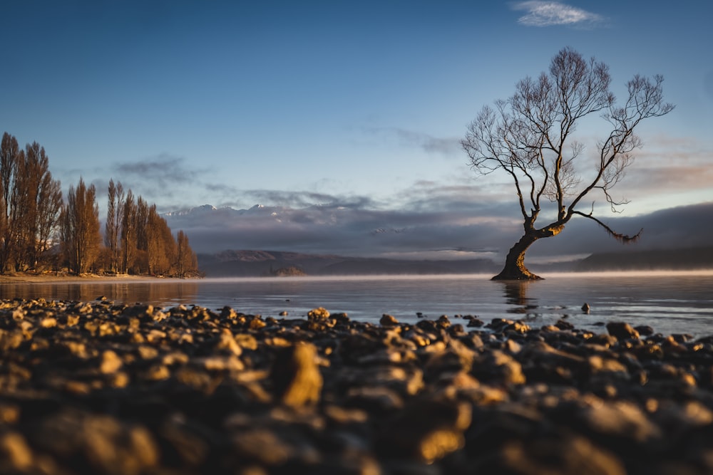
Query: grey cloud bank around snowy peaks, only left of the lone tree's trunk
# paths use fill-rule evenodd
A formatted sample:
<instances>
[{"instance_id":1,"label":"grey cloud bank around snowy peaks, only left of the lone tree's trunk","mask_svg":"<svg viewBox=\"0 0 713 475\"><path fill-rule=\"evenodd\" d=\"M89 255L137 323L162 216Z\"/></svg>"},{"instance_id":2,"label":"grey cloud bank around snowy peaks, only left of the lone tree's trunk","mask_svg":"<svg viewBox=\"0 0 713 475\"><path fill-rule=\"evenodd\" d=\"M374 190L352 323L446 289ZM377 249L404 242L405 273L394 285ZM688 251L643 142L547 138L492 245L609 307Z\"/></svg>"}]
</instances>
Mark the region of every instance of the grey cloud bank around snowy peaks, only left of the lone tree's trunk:
<instances>
[{"instance_id":1,"label":"grey cloud bank around snowy peaks, only left of the lone tree's trunk","mask_svg":"<svg viewBox=\"0 0 713 475\"><path fill-rule=\"evenodd\" d=\"M463 206L458 193L451 194L456 199L449 205L447 195L442 193L438 206L408 202L399 209L378 209L365 197L349 197L349 202L332 197L328 204L302 208L201 207L167 219L174 231L188 234L199 252L268 249L352 256L490 252L498 249L503 228L521 226L509 216L486 214L487 207Z\"/></svg>"}]
</instances>

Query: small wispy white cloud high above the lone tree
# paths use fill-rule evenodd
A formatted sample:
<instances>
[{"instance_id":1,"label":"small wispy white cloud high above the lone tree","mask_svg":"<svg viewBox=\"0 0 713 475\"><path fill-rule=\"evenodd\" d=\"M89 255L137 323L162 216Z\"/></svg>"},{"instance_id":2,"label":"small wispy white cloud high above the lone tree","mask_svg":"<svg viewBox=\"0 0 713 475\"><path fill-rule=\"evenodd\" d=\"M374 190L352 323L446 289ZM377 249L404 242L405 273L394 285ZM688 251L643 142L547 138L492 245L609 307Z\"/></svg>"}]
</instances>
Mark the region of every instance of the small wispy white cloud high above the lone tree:
<instances>
[{"instance_id":1,"label":"small wispy white cloud high above the lone tree","mask_svg":"<svg viewBox=\"0 0 713 475\"><path fill-rule=\"evenodd\" d=\"M558 1L520 1L511 8L527 12L518 19L525 26L595 26L604 20L600 15Z\"/></svg>"}]
</instances>

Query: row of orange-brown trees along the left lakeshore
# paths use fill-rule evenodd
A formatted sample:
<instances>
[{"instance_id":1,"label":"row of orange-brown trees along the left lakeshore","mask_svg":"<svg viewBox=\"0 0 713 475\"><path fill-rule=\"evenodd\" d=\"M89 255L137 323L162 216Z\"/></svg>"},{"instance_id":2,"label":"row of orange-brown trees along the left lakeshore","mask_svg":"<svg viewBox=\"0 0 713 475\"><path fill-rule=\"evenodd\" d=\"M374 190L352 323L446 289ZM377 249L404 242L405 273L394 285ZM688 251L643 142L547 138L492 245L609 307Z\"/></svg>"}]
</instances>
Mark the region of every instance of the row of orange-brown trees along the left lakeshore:
<instances>
[{"instance_id":1,"label":"row of orange-brown trees along the left lakeshore","mask_svg":"<svg viewBox=\"0 0 713 475\"><path fill-rule=\"evenodd\" d=\"M198 275L198 259L183 231L121 182L110 179L101 232L96 187L82 178L69 187L53 179L37 142L24 150L5 132L0 144L0 273L61 271Z\"/></svg>"}]
</instances>

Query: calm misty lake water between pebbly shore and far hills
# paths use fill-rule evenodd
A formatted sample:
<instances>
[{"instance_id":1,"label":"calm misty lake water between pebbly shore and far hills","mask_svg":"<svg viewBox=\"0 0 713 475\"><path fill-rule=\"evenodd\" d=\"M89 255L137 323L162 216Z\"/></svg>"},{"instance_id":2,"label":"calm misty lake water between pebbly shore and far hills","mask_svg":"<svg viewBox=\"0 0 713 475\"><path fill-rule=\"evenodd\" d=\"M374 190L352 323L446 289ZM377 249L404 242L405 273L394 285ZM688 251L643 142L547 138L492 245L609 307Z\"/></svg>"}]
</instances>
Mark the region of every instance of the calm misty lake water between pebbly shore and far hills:
<instances>
[{"instance_id":1,"label":"calm misty lake water between pebbly shore and far hills","mask_svg":"<svg viewBox=\"0 0 713 475\"><path fill-rule=\"evenodd\" d=\"M290 318L324 307L354 320L376 322L384 313L402 322L477 315L526 318L530 326L567 318L578 328L603 331L600 324L622 320L650 325L665 334L713 335L713 271L672 273L544 274L544 281L493 282L490 276L369 276L226 278L177 281L93 281L91 283L0 284L0 298L179 304ZM583 303L591 307L583 313Z\"/></svg>"}]
</instances>

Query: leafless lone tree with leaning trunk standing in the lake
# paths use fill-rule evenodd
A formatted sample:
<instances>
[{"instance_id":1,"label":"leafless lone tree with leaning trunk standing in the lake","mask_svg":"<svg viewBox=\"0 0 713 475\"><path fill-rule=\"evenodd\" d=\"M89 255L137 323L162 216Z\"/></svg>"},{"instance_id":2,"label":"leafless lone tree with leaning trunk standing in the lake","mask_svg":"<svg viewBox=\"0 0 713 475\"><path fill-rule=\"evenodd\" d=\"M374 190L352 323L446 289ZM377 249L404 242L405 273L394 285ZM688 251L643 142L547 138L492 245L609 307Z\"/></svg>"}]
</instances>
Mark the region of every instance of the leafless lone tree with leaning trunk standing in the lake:
<instances>
[{"instance_id":1,"label":"leafless lone tree with leaning trunk standing in the lake","mask_svg":"<svg viewBox=\"0 0 713 475\"><path fill-rule=\"evenodd\" d=\"M525 267L525 252L538 239L560 234L575 215L592 219L622 243L640 236L641 231L618 234L593 216L593 207L590 212L579 207L595 190L612 212L627 204L610 192L632 164L632 152L642 145L634 130L642 120L670 113L674 106L663 103L660 75L635 75L627 83L623 105L615 103L610 81L605 63L586 61L572 48L563 48L550 63L549 73L520 80L511 98L497 100L494 108L486 105L468 126L461 145L473 169L483 175L509 175L523 215L523 236L493 280L539 279ZM583 173L584 145L574 140L574 132L594 113L609 122L611 132L597 142L593 170ZM538 224L538 218L546 224Z\"/></svg>"}]
</instances>

